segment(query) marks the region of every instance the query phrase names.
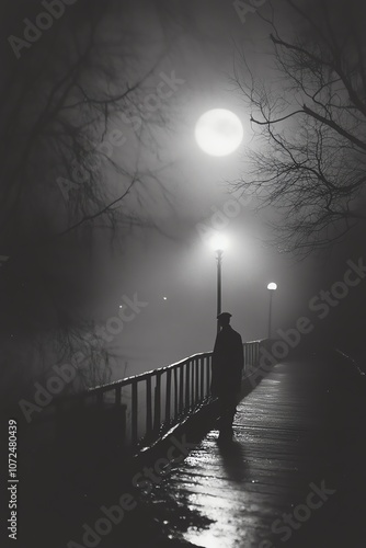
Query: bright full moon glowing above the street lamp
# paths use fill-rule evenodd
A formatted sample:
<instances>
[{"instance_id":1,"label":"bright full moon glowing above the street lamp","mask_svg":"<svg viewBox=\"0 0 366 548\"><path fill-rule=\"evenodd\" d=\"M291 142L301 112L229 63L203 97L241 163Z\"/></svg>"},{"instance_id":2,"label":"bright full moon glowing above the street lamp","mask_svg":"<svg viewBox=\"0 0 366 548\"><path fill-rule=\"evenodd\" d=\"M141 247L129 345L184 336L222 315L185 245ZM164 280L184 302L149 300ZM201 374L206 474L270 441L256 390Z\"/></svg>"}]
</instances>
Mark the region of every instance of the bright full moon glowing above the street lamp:
<instances>
[{"instance_id":1,"label":"bright full moon glowing above the street lamp","mask_svg":"<svg viewBox=\"0 0 366 548\"><path fill-rule=\"evenodd\" d=\"M243 138L239 117L226 109L214 109L203 114L196 124L195 137L199 148L210 156L228 156Z\"/></svg>"}]
</instances>

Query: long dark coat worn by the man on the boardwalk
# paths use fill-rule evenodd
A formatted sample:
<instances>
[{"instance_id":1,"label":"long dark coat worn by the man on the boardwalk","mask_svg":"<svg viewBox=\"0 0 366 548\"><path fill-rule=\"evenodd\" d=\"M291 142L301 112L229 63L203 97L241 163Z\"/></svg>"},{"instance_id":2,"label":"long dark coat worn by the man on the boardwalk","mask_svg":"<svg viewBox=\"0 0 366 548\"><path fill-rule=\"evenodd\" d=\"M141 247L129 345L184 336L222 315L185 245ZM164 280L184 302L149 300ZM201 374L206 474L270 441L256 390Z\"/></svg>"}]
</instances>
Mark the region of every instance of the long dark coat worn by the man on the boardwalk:
<instances>
[{"instance_id":1,"label":"long dark coat worn by the man on the boardwalk","mask_svg":"<svg viewBox=\"0 0 366 548\"><path fill-rule=\"evenodd\" d=\"M241 388L244 364L240 334L231 326L225 326L217 333L213 353L213 396L235 396Z\"/></svg>"}]
</instances>

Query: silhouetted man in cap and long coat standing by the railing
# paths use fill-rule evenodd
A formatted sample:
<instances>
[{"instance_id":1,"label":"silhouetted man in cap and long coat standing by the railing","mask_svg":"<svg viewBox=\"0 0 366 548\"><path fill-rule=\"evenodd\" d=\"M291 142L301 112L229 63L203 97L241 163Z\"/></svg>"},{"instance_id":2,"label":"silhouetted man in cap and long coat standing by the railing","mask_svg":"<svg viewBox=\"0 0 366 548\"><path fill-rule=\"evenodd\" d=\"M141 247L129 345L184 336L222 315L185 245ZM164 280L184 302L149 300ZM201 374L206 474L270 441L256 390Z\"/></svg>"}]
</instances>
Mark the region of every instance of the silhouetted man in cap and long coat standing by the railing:
<instances>
[{"instance_id":1,"label":"silhouetted man in cap and long coat standing by the railing","mask_svg":"<svg viewBox=\"0 0 366 548\"><path fill-rule=\"evenodd\" d=\"M244 364L240 334L230 326L231 313L221 312L213 353L211 395L218 398L220 437L232 436L232 421L237 411Z\"/></svg>"}]
</instances>

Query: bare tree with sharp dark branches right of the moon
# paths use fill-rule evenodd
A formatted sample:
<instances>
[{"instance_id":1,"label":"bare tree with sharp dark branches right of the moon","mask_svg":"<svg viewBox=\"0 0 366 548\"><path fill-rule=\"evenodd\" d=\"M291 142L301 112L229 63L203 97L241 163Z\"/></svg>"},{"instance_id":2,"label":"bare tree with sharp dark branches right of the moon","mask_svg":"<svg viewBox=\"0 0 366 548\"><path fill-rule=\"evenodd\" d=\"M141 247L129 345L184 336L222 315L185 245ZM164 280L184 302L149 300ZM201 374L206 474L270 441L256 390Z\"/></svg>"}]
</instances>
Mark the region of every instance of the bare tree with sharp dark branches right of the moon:
<instances>
[{"instance_id":1,"label":"bare tree with sharp dark branches right of the moon","mask_svg":"<svg viewBox=\"0 0 366 548\"><path fill-rule=\"evenodd\" d=\"M274 242L307 255L332 247L366 219L365 7L356 0L286 0L287 26L272 10L271 87L243 55L236 81L251 110L258 147L236 187L272 206Z\"/></svg>"}]
</instances>

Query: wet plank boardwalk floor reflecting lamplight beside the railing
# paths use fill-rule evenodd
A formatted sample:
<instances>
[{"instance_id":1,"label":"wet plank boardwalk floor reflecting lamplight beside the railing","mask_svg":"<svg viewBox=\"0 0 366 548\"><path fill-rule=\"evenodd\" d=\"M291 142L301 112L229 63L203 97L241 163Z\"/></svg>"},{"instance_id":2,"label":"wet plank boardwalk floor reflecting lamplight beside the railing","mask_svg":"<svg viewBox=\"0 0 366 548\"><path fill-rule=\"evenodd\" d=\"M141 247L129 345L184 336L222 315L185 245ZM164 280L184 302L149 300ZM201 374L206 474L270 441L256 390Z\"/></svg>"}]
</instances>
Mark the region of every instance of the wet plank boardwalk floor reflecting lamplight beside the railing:
<instances>
[{"instance_id":1,"label":"wet plank boardwalk floor reflecting lamplight beside the railing","mask_svg":"<svg viewBox=\"0 0 366 548\"><path fill-rule=\"evenodd\" d=\"M339 359L276 365L238 407L232 443L213 430L164 480L207 548L366 546L364 379ZM314 494L311 494L314 493ZM159 499L159 500L158 500ZM181 535L180 535L181 534Z\"/></svg>"}]
</instances>

